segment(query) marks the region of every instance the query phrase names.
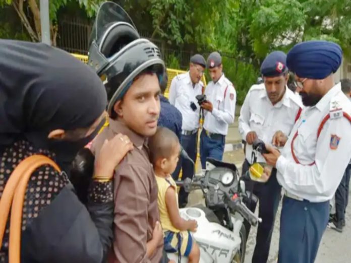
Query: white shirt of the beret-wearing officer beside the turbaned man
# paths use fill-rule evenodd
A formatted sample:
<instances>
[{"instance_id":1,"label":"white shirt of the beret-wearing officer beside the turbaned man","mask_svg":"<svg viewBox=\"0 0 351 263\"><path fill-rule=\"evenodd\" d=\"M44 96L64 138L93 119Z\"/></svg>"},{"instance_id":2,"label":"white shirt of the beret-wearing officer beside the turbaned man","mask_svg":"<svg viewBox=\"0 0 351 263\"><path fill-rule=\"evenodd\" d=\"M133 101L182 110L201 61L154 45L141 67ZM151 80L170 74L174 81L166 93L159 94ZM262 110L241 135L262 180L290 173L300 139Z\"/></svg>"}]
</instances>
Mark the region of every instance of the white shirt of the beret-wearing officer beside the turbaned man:
<instances>
[{"instance_id":1,"label":"white shirt of the beret-wearing officer beside the turbaned man","mask_svg":"<svg viewBox=\"0 0 351 263\"><path fill-rule=\"evenodd\" d=\"M259 139L271 144L278 130L289 136L302 107L302 102L287 87L282 99L273 105L264 83L253 85L240 111L239 132L246 141L247 134L255 131ZM246 145L246 159L252 164L252 145ZM257 161L266 162L261 154L257 155Z\"/></svg>"}]
</instances>

